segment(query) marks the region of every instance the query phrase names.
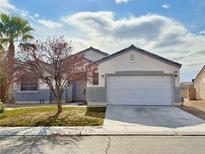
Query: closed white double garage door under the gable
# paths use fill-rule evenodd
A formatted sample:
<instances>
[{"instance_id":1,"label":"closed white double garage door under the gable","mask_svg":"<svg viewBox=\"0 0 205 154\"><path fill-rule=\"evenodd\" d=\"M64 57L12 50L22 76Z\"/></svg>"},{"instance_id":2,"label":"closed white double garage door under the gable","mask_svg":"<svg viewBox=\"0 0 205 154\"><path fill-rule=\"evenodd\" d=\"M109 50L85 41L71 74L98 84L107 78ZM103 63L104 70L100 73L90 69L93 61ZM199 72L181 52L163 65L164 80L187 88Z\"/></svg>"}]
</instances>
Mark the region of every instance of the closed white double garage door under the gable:
<instances>
[{"instance_id":1,"label":"closed white double garage door under the gable","mask_svg":"<svg viewBox=\"0 0 205 154\"><path fill-rule=\"evenodd\" d=\"M172 105L170 76L109 76L109 105Z\"/></svg>"}]
</instances>

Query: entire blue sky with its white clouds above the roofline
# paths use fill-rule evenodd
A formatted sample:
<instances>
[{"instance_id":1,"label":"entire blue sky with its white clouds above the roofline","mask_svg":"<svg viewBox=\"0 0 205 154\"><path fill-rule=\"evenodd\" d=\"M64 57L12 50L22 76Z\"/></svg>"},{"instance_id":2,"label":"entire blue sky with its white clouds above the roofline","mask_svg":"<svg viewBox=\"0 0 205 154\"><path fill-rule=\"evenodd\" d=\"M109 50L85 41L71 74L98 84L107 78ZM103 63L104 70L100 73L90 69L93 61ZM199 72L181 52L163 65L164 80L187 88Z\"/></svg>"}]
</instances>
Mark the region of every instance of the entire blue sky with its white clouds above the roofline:
<instances>
[{"instance_id":1,"label":"entire blue sky with its white clouds above the roofline","mask_svg":"<svg viewBox=\"0 0 205 154\"><path fill-rule=\"evenodd\" d=\"M182 81L205 64L205 0L0 0L0 13L29 20L37 39L64 35L75 52L134 44L182 63Z\"/></svg>"}]
</instances>

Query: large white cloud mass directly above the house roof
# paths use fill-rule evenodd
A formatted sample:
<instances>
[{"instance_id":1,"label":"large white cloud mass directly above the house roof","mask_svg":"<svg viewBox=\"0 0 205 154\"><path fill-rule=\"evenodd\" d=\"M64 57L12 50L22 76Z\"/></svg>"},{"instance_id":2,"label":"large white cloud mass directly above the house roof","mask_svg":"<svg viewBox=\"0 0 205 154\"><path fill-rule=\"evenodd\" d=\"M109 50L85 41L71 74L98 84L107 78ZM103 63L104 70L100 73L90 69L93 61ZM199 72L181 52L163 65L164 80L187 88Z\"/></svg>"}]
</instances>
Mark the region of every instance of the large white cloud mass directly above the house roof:
<instances>
[{"instance_id":1,"label":"large white cloud mass directly above the house roof","mask_svg":"<svg viewBox=\"0 0 205 154\"><path fill-rule=\"evenodd\" d=\"M183 75L190 69L196 74L205 62L205 36L191 33L182 23L165 16L115 19L113 12L80 12L64 17L63 22L75 28L74 34L82 34L88 46L116 52L135 44L182 63Z\"/></svg>"}]
</instances>

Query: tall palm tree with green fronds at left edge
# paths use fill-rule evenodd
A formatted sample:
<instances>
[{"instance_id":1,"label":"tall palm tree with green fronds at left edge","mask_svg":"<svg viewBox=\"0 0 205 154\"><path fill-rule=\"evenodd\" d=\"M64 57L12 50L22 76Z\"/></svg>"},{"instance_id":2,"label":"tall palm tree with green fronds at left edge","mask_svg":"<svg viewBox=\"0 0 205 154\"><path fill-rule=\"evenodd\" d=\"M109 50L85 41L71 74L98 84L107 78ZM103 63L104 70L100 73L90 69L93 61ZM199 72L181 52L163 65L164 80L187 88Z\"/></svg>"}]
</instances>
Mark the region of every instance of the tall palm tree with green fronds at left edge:
<instances>
[{"instance_id":1,"label":"tall palm tree with green fronds at left edge","mask_svg":"<svg viewBox=\"0 0 205 154\"><path fill-rule=\"evenodd\" d=\"M27 20L19 17L0 14L0 51L3 47L8 47L6 52L7 66L7 86L10 89L13 86L13 76L15 72L15 42L26 42L33 39L31 31L33 28ZM11 89L10 89L11 90Z\"/></svg>"}]
</instances>

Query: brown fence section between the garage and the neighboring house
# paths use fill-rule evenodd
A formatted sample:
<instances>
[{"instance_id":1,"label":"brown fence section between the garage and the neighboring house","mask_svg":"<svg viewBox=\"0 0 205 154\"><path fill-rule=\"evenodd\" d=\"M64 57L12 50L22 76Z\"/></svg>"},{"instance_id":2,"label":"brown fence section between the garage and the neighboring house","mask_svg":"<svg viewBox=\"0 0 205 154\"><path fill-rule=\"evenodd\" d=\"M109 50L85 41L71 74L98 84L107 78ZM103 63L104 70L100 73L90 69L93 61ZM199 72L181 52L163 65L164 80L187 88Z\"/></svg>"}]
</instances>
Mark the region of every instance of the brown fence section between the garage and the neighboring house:
<instances>
[{"instance_id":1,"label":"brown fence section between the garage and the neighboring house","mask_svg":"<svg viewBox=\"0 0 205 154\"><path fill-rule=\"evenodd\" d=\"M180 84L180 87L181 87L181 96L184 98L185 101L196 99L196 92L195 92L193 82L182 82Z\"/></svg>"}]
</instances>

